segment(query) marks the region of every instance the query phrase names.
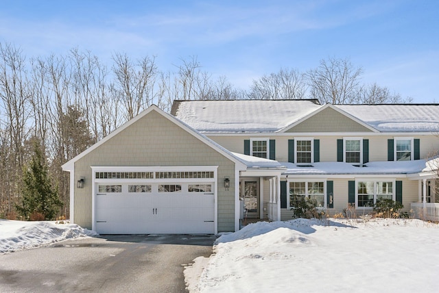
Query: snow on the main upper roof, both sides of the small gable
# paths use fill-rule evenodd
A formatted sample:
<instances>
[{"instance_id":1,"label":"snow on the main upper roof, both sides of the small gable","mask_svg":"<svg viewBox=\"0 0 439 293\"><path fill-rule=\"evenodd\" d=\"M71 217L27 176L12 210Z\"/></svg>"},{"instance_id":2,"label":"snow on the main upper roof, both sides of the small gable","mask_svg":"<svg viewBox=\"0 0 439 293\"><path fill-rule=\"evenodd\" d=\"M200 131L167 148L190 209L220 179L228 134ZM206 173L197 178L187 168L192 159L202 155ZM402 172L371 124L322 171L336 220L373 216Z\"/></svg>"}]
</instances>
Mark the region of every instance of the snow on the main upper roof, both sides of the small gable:
<instances>
[{"instance_id":1,"label":"snow on the main upper roof, both sides of the small gable","mask_svg":"<svg viewBox=\"0 0 439 293\"><path fill-rule=\"evenodd\" d=\"M438 132L439 104L333 105L382 132ZM319 110L316 100L176 101L173 114L200 132L274 132Z\"/></svg>"}]
</instances>

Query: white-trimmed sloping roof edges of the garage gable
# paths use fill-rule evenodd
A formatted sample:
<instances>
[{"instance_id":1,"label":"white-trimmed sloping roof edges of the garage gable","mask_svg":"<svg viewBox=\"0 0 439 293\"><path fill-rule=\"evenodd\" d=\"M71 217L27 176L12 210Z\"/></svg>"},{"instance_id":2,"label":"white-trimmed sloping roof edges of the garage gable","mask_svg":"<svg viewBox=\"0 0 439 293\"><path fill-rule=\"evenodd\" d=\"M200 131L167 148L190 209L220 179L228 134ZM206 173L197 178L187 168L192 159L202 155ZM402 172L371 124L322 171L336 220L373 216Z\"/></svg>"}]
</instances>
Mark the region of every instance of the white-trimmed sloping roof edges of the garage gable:
<instances>
[{"instance_id":1,"label":"white-trimmed sloping roof edges of the garage gable","mask_svg":"<svg viewBox=\"0 0 439 293\"><path fill-rule=\"evenodd\" d=\"M224 149L224 147L220 146L219 144L217 144L216 142L214 142L210 138L207 138L202 133L196 131L195 129L193 129L189 125L178 120L178 118L163 112L163 110L158 108L156 105L151 105L146 110L141 112L141 114L135 116L134 118L129 120L127 123L121 125L115 131L110 133L108 136L106 136L102 140L99 140L99 142L96 142L95 144L93 144L93 146L90 146L88 149L86 149L85 151L83 151L82 153L77 155L76 157L73 157L73 159L69 160L69 162L66 162L65 164L62 165L62 170L67 170L67 171L73 170L74 163L76 161L80 160L82 157L84 157L88 153L91 153L93 150L97 149L99 146L101 146L102 144L104 144L105 142L107 142L108 140L113 138L114 136L117 136L118 133L121 133L121 131L123 131L124 129L127 129L128 127L130 127L130 125L136 123L138 120L140 120L141 118L143 118L144 116L146 116L147 114L149 114L152 111L157 112L158 114L161 114L161 116L167 118L172 123L181 127L182 130L191 133L191 135L195 136L195 138L198 138L199 140L201 140L205 144L211 146L211 148L215 149L215 151L221 153L222 155L227 157L229 160L235 162L235 164L237 164L237 166L239 167L240 170L246 170L247 165L246 165L246 162L244 162L244 160L241 160L239 157L237 157L236 155L234 155L233 153L231 153L227 149Z\"/></svg>"}]
</instances>

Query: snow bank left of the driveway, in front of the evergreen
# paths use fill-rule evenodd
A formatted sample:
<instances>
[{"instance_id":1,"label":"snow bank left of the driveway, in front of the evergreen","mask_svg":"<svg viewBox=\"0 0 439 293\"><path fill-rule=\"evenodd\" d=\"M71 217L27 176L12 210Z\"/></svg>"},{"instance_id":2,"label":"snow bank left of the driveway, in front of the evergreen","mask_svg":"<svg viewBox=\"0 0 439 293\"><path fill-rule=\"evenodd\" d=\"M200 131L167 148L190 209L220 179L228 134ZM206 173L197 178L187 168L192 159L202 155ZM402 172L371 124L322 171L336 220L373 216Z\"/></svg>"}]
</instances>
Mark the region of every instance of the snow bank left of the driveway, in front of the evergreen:
<instances>
[{"instance_id":1,"label":"snow bank left of the driveway, in front of the evergreen","mask_svg":"<svg viewBox=\"0 0 439 293\"><path fill-rule=\"evenodd\" d=\"M97 235L95 231L83 229L75 224L0 219L0 253L32 249L53 242L95 235Z\"/></svg>"}]
</instances>

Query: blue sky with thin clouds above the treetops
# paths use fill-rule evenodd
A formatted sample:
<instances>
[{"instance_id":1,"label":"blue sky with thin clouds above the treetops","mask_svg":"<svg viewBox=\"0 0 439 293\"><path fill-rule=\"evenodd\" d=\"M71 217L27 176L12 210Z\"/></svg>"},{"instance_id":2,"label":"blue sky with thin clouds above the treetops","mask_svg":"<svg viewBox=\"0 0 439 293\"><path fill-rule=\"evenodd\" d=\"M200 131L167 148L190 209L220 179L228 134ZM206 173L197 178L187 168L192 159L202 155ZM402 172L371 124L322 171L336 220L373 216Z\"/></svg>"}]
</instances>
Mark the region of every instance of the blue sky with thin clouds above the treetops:
<instances>
[{"instance_id":1,"label":"blue sky with thin clouds above the treetops","mask_svg":"<svg viewBox=\"0 0 439 293\"><path fill-rule=\"evenodd\" d=\"M439 1L21 1L0 3L0 42L29 58L72 48L156 56L174 71L196 56L237 88L322 59L350 58L362 81L439 103Z\"/></svg>"}]
</instances>

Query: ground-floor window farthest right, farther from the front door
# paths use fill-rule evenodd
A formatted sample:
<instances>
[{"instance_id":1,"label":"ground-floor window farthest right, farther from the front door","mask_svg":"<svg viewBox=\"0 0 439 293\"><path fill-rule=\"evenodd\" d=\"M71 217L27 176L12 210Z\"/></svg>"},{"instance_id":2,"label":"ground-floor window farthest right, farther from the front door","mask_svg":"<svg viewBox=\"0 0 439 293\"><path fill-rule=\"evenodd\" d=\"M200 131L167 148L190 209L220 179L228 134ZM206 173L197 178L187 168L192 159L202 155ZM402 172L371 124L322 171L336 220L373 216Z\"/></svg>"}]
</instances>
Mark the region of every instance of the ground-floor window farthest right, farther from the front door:
<instances>
[{"instance_id":1,"label":"ground-floor window farthest right, farther from the front door","mask_svg":"<svg viewBox=\"0 0 439 293\"><path fill-rule=\"evenodd\" d=\"M381 199L395 200L394 181L357 181L357 207L372 208Z\"/></svg>"}]
</instances>

